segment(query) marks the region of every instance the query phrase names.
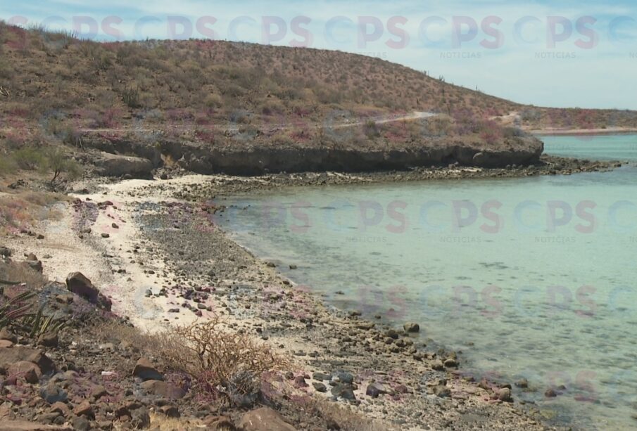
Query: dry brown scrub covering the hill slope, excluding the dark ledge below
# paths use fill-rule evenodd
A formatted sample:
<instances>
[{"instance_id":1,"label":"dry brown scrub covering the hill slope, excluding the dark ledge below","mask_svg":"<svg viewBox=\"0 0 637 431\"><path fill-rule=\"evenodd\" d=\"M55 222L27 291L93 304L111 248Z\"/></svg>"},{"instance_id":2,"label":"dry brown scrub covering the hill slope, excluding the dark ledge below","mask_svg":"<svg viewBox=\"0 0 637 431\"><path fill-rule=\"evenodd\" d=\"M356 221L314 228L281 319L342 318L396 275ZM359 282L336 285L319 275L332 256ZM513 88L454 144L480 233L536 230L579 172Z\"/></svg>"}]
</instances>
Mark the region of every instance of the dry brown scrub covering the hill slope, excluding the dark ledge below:
<instances>
[{"instance_id":1,"label":"dry brown scrub covering the hill slope, excluding the dark ledge below","mask_svg":"<svg viewBox=\"0 0 637 431\"><path fill-rule=\"evenodd\" d=\"M73 36L0 22L4 128L49 129L49 136L81 148L87 130L130 130L140 123L222 145L232 135L226 129L237 120L259 131L248 140L240 134L244 143L271 142L278 134L287 135L278 140L282 145L316 143L337 112L360 122L360 133L352 139L396 145L484 127L488 130L470 132L474 139L502 139L501 125L637 126L636 112L519 105L449 84L444 77L338 51L201 40L97 43ZM372 112L413 111L443 113L461 124L433 124L434 134L423 136L425 125L418 136L414 130L396 133L367 122ZM511 112L519 113L519 124L503 120ZM474 127L465 117L495 122ZM22 162L36 164L28 157ZM0 168L16 169L11 161L0 162Z\"/></svg>"}]
</instances>

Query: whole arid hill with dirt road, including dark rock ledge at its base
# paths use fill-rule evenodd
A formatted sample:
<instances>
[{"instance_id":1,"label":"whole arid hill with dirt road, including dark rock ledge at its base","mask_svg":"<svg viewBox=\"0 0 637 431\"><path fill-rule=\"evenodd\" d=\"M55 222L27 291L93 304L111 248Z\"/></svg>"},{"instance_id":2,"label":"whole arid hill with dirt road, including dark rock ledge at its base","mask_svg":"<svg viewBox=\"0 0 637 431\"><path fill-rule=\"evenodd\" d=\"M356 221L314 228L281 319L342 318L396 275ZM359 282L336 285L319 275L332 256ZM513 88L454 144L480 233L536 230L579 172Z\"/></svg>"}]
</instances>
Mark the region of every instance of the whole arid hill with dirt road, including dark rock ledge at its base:
<instances>
[{"instance_id":1,"label":"whole arid hill with dirt road, including dark rock ledge at its base","mask_svg":"<svg viewBox=\"0 0 637 431\"><path fill-rule=\"evenodd\" d=\"M5 148L144 145L155 164L196 158L201 172L527 164L542 146L518 127L637 127L637 112L519 105L339 51L100 44L5 24L0 50Z\"/></svg>"}]
</instances>

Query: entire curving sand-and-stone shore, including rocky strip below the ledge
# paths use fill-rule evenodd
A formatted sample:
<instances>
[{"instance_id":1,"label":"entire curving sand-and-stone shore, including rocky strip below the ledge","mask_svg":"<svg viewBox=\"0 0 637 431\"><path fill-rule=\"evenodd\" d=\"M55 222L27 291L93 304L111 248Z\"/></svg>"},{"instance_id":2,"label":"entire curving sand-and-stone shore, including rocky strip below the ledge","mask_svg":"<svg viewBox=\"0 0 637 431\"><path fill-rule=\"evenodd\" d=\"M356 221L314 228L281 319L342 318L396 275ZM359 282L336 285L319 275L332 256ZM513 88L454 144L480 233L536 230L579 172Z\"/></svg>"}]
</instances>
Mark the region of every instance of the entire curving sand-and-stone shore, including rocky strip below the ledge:
<instances>
[{"instance_id":1,"label":"entire curving sand-and-stone shore, including rocky strip below the ledge","mask_svg":"<svg viewBox=\"0 0 637 431\"><path fill-rule=\"evenodd\" d=\"M614 166L550 160L541 169L507 172L448 167L358 175L90 179L80 184L80 193L71 194L75 202L58 204L63 217L46 224L45 240L18 238L9 245L19 252L48 255L44 274L54 280L81 271L111 297L116 314L129 317L142 330L222 316L227 328L252 333L294 359L296 371L289 385L301 399L329 399L329 387L327 394L318 390L322 383L310 376L344 372L353 375L356 387L346 405L390 429L443 429L453 423L455 429L470 430L479 421L489 429L545 430L536 407L518 404L515 394L511 399L512 385L467 373L460 352L438 350L438 340L427 340L427 322L416 322L424 325L420 335L396 331L392 321L364 319L294 285L274 264L263 262L211 223L211 214L222 208L210 202L215 196L281 186L529 176L550 172L555 163L564 164L555 173L567 174ZM195 304L190 302L193 295L201 295ZM370 396L370 385L385 394ZM467 411L473 416L465 417Z\"/></svg>"}]
</instances>

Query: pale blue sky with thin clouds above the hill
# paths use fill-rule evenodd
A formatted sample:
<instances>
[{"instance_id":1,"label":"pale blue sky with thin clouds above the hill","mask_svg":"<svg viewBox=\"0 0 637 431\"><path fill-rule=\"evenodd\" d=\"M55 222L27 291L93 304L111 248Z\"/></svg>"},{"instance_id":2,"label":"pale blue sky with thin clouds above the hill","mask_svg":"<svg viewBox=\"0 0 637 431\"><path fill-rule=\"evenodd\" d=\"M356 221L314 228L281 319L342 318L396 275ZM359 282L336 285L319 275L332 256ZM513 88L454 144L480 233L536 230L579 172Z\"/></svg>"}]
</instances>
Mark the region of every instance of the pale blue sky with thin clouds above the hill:
<instances>
[{"instance_id":1,"label":"pale blue sky with thin clouds above the hill","mask_svg":"<svg viewBox=\"0 0 637 431\"><path fill-rule=\"evenodd\" d=\"M3 1L0 19L99 41L348 51L537 106L637 110L637 1Z\"/></svg>"}]
</instances>

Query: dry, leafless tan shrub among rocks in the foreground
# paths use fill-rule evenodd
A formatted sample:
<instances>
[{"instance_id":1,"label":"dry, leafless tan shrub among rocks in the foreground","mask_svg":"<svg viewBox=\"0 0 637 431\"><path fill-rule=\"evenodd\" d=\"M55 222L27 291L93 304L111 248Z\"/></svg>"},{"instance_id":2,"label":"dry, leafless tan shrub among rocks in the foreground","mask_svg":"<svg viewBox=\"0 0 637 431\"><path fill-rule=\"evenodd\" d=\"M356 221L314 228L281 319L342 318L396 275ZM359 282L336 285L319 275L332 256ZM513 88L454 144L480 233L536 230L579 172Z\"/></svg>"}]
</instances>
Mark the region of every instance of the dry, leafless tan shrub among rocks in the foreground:
<instances>
[{"instance_id":1,"label":"dry, leafless tan shrub among rocks in the foreground","mask_svg":"<svg viewBox=\"0 0 637 431\"><path fill-rule=\"evenodd\" d=\"M158 335L160 356L168 368L187 373L198 394L227 398L235 404L258 394L265 373L284 370L289 362L251 335L222 329L213 318L172 328Z\"/></svg>"}]
</instances>

